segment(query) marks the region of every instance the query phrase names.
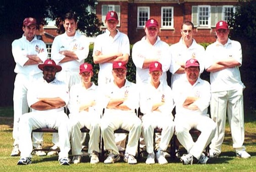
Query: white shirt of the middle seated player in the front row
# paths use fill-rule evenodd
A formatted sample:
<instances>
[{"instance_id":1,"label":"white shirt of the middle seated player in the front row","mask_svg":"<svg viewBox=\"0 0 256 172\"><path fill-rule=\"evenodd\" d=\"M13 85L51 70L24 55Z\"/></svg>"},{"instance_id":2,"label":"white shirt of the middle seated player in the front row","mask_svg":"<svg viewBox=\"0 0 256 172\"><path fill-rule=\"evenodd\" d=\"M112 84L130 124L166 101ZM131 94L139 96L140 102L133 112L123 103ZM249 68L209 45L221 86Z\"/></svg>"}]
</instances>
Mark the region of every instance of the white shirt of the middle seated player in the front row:
<instances>
[{"instance_id":1,"label":"white shirt of the middle seated player in the front row","mask_svg":"<svg viewBox=\"0 0 256 172\"><path fill-rule=\"evenodd\" d=\"M133 82L128 80L125 81L125 85L119 88L117 85L114 84L114 81L110 82L106 86L101 87L101 107L105 108L105 113L115 113L115 114L123 114L123 113L134 113L135 109L139 107L139 90L137 85ZM119 109L109 109L107 108L107 104L109 103L110 99L117 99L117 98L125 98L127 100L123 102L131 110L124 111Z\"/></svg>"}]
</instances>

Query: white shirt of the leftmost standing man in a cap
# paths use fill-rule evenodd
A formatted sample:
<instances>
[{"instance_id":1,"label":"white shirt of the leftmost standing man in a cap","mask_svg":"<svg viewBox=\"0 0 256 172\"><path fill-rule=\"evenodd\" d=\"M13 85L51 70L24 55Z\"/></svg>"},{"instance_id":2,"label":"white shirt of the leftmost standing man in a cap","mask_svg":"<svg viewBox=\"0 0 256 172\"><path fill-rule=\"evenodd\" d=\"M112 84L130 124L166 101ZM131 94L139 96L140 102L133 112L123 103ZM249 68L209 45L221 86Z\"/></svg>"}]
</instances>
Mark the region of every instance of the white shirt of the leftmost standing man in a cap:
<instances>
[{"instance_id":1,"label":"white shirt of the leftmost standing man in a cap","mask_svg":"<svg viewBox=\"0 0 256 172\"><path fill-rule=\"evenodd\" d=\"M42 72L37 65L24 66L24 64L29 60L27 55L37 55L41 61L45 61L47 59L48 52L46 45L42 40L37 40L37 37L35 36L31 41L28 41L26 36L22 35L20 39L12 42L11 47L12 55L16 62L14 69L15 73L32 76ZM42 49L44 51L40 52Z\"/></svg>"}]
</instances>

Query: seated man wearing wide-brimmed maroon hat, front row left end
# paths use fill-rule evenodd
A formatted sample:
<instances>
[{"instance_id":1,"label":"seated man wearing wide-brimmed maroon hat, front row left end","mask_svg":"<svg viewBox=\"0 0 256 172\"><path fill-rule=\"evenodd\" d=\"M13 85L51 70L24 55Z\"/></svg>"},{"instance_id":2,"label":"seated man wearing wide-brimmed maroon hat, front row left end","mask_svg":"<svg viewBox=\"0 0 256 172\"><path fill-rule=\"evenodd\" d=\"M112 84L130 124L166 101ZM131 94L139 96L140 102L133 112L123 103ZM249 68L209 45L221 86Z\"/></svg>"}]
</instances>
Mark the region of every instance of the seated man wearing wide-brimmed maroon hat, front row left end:
<instances>
[{"instance_id":1,"label":"seated man wearing wide-brimmed maroon hat, front row left end","mask_svg":"<svg viewBox=\"0 0 256 172\"><path fill-rule=\"evenodd\" d=\"M32 112L21 116L19 126L21 158L17 165L31 163L32 152L32 130L37 128L54 128L59 134L59 163L69 165L69 131L67 114L64 113L64 106L69 101L69 90L64 82L55 78L61 66L53 60L46 60L38 65L43 71L43 77L33 82L27 91L27 102Z\"/></svg>"}]
</instances>

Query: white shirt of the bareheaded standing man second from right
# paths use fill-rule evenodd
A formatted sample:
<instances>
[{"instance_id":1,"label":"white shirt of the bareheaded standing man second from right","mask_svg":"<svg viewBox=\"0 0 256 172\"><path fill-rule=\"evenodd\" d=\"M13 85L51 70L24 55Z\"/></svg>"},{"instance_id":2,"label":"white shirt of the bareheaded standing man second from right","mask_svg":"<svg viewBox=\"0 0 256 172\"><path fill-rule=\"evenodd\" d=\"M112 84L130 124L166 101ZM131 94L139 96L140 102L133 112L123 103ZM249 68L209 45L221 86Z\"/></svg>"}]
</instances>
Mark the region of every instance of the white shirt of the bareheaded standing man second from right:
<instances>
[{"instance_id":1,"label":"white shirt of the bareheaded standing man second from right","mask_svg":"<svg viewBox=\"0 0 256 172\"><path fill-rule=\"evenodd\" d=\"M178 71L178 69L181 67L177 64L183 63L186 64L186 61L195 58L200 64L200 74L203 73L204 70L204 59L205 57L205 50L204 47L197 44L196 40L193 39L192 45L187 48L186 45L183 44L182 38L180 41L176 44L173 44L170 46L170 53L171 53L171 66L170 66L170 72L172 73L171 76L171 85L174 81L186 77L186 74L176 74L175 72Z\"/></svg>"}]
</instances>

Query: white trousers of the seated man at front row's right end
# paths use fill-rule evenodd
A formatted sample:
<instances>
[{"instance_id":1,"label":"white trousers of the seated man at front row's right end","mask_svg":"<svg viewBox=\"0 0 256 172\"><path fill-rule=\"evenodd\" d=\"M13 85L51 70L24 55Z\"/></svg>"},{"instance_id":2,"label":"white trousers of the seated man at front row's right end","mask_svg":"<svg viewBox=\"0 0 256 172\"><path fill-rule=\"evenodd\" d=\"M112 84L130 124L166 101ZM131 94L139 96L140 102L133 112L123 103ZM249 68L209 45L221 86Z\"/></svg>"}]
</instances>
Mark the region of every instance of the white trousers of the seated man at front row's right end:
<instances>
[{"instance_id":1,"label":"white trousers of the seated man at front row's right end","mask_svg":"<svg viewBox=\"0 0 256 172\"><path fill-rule=\"evenodd\" d=\"M176 114L174 118L175 134L177 139L188 153L197 160L203 150L210 144L216 132L216 124L207 114ZM194 142L189 131L196 129L201 132Z\"/></svg>"}]
</instances>

